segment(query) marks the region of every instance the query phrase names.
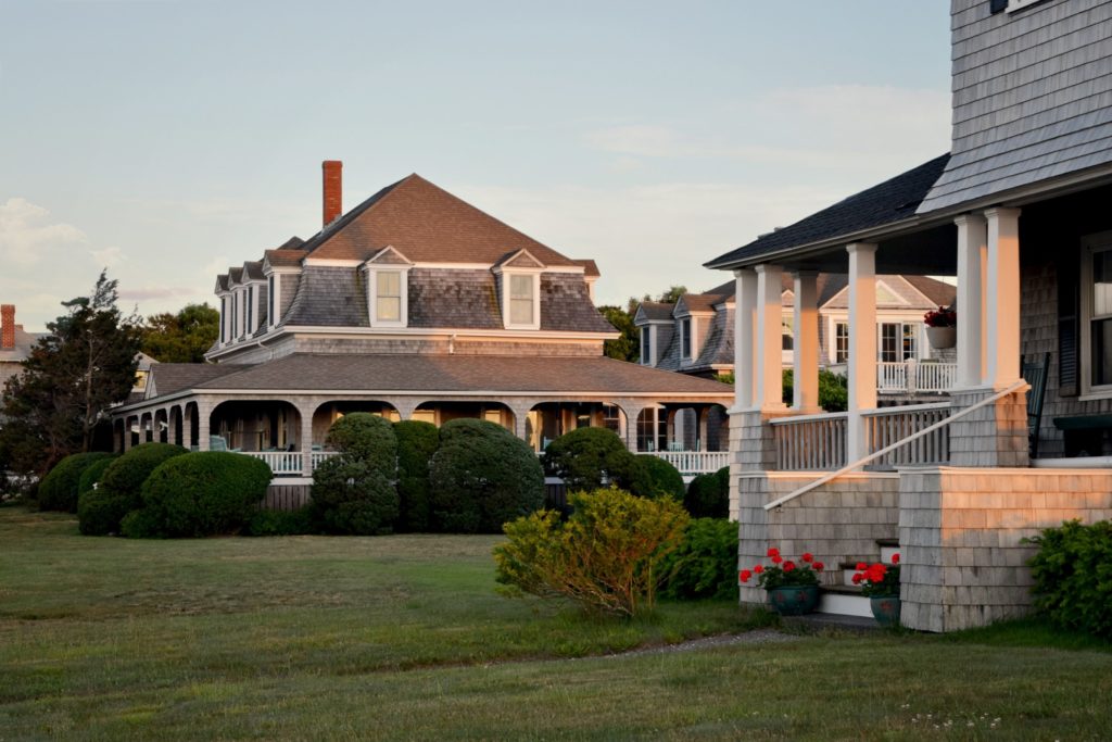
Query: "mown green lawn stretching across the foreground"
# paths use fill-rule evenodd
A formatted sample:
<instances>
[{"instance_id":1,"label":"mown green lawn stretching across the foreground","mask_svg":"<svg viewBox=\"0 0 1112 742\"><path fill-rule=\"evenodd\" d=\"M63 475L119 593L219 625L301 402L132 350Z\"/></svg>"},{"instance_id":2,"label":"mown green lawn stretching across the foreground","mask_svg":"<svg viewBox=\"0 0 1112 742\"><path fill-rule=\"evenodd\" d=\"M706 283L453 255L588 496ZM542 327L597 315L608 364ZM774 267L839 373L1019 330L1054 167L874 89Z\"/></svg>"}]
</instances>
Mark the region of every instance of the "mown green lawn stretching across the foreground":
<instances>
[{"instance_id":1,"label":"mown green lawn stretching across the foreground","mask_svg":"<svg viewBox=\"0 0 1112 742\"><path fill-rule=\"evenodd\" d=\"M885 633L597 656L765 620L685 604L596 622L506 600L496 542L91 538L2 507L0 740L1112 734L1099 643Z\"/></svg>"}]
</instances>

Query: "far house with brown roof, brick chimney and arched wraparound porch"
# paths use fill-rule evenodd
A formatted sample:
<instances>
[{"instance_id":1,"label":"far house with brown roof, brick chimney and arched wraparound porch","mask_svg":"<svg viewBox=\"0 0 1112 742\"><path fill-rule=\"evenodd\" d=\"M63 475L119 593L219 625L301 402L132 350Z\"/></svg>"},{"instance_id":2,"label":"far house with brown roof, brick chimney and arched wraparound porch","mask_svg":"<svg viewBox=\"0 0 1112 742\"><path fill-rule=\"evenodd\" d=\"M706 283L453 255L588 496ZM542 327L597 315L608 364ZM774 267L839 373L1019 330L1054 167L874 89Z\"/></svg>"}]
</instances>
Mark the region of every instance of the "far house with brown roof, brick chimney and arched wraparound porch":
<instances>
[{"instance_id":1,"label":"far house with brown roof, brick chimney and arched wraparound porch","mask_svg":"<svg viewBox=\"0 0 1112 742\"><path fill-rule=\"evenodd\" d=\"M705 421L731 402L727 386L603 355L617 333L594 307L593 260L417 175L344 214L340 167L324 164L318 234L217 277L215 363L155 365L145 398L116 410L118 447L156 436L227 446L308 475L329 426L354 410L481 417L536 451L607 426L648 448L658 408Z\"/></svg>"}]
</instances>

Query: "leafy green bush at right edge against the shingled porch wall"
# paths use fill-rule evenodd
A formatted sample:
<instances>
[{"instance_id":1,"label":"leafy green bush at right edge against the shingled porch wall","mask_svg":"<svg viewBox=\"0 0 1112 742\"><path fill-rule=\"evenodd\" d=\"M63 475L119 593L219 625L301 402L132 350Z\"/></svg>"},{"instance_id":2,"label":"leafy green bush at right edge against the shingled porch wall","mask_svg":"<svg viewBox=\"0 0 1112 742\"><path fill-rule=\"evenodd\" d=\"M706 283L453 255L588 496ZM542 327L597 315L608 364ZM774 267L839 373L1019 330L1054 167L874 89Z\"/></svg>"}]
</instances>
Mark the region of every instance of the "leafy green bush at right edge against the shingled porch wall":
<instances>
[{"instance_id":1,"label":"leafy green bush at right edge against the shingled porch wall","mask_svg":"<svg viewBox=\"0 0 1112 742\"><path fill-rule=\"evenodd\" d=\"M1035 610L1062 629L1112 637L1112 522L1078 521L1030 540Z\"/></svg>"}]
</instances>

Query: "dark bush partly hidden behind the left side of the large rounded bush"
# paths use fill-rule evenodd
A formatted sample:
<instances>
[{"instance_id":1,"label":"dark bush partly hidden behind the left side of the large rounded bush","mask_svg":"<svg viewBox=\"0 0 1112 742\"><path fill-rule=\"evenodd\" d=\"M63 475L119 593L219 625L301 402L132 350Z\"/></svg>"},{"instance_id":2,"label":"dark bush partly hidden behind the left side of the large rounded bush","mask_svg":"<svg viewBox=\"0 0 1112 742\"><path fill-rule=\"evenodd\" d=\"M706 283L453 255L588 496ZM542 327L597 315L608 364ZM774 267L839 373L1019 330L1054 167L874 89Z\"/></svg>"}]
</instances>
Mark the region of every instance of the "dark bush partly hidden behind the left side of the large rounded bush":
<instances>
[{"instance_id":1,"label":"dark bush partly hidden behind the left side of the large rounded bush","mask_svg":"<svg viewBox=\"0 0 1112 742\"><path fill-rule=\"evenodd\" d=\"M112 461L100 476L99 486L87 506L86 495L78 497L78 527L86 535L118 533L120 521L131 511L142 507L142 484L159 464L189 453L169 443L145 443Z\"/></svg>"}]
</instances>

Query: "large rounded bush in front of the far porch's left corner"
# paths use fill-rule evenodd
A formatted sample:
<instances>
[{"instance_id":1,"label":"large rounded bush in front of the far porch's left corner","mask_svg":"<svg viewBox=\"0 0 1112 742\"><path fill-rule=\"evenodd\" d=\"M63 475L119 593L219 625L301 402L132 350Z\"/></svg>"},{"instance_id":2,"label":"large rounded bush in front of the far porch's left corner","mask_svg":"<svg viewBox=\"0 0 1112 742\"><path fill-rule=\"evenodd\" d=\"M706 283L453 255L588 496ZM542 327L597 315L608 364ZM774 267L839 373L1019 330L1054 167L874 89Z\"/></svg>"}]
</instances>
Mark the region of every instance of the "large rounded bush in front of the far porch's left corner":
<instances>
[{"instance_id":1,"label":"large rounded bush in front of the far porch's left corner","mask_svg":"<svg viewBox=\"0 0 1112 742\"><path fill-rule=\"evenodd\" d=\"M265 462L222 451L170 458L142 485L143 508L128 516L129 536L214 536L244 527L266 497Z\"/></svg>"}]
</instances>

